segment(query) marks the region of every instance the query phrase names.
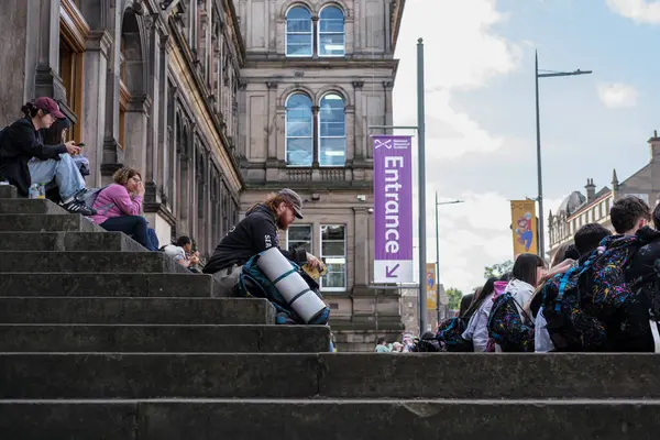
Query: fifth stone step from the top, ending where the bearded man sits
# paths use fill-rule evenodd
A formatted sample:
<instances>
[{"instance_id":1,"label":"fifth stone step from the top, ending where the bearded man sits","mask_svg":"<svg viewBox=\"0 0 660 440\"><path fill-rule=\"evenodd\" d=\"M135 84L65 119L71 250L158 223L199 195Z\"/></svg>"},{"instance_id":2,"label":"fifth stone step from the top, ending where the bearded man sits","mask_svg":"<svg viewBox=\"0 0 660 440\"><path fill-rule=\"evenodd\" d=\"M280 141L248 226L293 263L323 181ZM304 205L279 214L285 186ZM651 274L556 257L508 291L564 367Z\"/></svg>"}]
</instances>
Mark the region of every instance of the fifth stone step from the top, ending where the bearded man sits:
<instances>
[{"instance_id":1,"label":"fifth stone step from the top, ending where the bearded man sits","mask_svg":"<svg viewBox=\"0 0 660 440\"><path fill-rule=\"evenodd\" d=\"M4 255L4 254L3 254ZM1 260L1 258L0 258ZM210 275L154 273L1 273L0 297L211 297ZM89 271L87 267L84 271Z\"/></svg>"}]
</instances>

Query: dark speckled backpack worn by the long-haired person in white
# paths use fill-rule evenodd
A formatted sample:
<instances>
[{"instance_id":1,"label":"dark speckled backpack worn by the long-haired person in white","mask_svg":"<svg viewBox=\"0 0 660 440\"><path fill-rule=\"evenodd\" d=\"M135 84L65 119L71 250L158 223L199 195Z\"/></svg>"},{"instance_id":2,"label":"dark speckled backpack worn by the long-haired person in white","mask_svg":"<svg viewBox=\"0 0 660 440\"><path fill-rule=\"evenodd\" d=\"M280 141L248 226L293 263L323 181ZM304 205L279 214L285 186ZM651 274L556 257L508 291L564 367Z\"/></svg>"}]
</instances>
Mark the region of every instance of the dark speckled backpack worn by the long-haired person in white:
<instances>
[{"instance_id":1,"label":"dark speckled backpack worn by the long-haired person in white","mask_svg":"<svg viewBox=\"0 0 660 440\"><path fill-rule=\"evenodd\" d=\"M520 311L527 318L520 317ZM488 337L499 344L504 352L534 352L534 323L522 306L506 292L493 301L488 316Z\"/></svg>"}]
</instances>

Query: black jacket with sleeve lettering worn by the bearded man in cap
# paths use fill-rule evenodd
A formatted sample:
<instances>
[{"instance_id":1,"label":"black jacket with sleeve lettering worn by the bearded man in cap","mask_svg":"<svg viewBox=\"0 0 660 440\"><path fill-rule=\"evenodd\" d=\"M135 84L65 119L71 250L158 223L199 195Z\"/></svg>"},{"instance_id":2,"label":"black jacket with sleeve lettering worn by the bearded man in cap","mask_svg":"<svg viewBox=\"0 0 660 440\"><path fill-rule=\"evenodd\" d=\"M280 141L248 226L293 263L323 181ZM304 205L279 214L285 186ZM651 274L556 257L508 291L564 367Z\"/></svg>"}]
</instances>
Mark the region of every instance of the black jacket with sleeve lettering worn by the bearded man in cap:
<instances>
[{"instance_id":1,"label":"black jacket with sleeve lettering worn by the bearded man in cap","mask_svg":"<svg viewBox=\"0 0 660 440\"><path fill-rule=\"evenodd\" d=\"M265 205L257 205L220 241L204 267L204 273L215 274L234 264L242 266L252 256L273 246L279 248L275 216ZM307 252L304 249L280 252L296 263L307 262Z\"/></svg>"}]
</instances>

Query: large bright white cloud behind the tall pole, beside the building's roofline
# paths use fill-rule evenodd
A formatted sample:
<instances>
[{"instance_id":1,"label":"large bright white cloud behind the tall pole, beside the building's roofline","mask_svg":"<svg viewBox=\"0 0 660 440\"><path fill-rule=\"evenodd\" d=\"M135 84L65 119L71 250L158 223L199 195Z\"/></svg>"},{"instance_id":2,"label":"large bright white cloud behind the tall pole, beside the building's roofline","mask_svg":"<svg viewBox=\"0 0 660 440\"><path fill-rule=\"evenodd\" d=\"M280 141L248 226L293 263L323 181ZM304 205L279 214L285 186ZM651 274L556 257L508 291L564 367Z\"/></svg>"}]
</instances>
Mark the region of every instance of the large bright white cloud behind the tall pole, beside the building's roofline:
<instances>
[{"instance_id":1,"label":"large bright white cloud behind the tall pole, beside the building's roofline","mask_svg":"<svg viewBox=\"0 0 660 440\"><path fill-rule=\"evenodd\" d=\"M415 43L422 37L429 158L490 153L503 145L502 136L457 110L452 96L485 87L488 80L518 68L521 46L493 32L505 20L495 0L406 2L396 53L400 64L394 90L395 123L417 121Z\"/></svg>"}]
</instances>

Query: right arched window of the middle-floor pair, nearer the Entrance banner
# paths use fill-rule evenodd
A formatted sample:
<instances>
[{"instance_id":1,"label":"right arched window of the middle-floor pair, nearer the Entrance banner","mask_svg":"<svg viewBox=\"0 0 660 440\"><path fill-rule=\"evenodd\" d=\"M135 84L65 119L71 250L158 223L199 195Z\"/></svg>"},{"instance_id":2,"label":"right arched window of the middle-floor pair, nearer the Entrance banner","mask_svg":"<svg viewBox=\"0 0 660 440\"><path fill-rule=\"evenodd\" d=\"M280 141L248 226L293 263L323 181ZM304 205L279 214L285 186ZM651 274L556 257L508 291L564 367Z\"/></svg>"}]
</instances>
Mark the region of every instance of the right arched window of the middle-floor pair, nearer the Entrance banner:
<instances>
[{"instance_id":1,"label":"right arched window of the middle-floor pair, nearer the Entrance banner","mask_svg":"<svg viewBox=\"0 0 660 440\"><path fill-rule=\"evenodd\" d=\"M346 162L346 119L344 100L337 94L321 98L319 109L319 165L344 166Z\"/></svg>"}]
</instances>

